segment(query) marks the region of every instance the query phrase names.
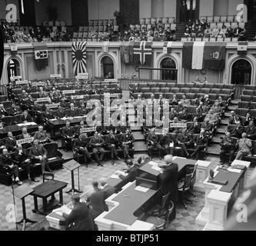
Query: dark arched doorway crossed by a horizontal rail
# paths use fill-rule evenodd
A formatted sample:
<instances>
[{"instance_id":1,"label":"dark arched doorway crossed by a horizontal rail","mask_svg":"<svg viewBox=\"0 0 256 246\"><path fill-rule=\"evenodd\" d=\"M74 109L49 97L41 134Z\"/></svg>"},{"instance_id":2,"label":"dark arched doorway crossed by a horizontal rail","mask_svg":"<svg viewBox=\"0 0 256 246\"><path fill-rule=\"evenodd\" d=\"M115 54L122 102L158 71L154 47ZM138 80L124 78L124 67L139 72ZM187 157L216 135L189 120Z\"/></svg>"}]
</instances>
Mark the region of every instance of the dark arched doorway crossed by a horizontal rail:
<instances>
[{"instance_id":1,"label":"dark arched doorway crossed by a horizontal rail","mask_svg":"<svg viewBox=\"0 0 256 246\"><path fill-rule=\"evenodd\" d=\"M176 70L176 63L175 60L172 58L164 58L161 60L160 68L164 69L161 70L160 78L162 80L175 80L177 81L177 70ZM174 70L171 70L171 69Z\"/></svg>"}]
</instances>

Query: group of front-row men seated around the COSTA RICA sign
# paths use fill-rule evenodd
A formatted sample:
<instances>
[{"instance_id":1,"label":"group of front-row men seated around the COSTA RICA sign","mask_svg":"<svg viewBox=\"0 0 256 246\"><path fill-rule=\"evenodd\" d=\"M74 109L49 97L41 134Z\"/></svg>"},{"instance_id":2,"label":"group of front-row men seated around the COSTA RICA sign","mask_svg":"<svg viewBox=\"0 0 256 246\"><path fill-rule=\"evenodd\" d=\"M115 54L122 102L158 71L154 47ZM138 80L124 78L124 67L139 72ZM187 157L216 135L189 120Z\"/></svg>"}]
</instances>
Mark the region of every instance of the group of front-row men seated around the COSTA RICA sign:
<instances>
[{"instance_id":1,"label":"group of front-row men seated around the COSTA RICA sign","mask_svg":"<svg viewBox=\"0 0 256 246\"><path fill-rule=\"evenodd\" d=\"M80 133L81 128L85 128L84 121L80 122L77 128L71 127L70 121L66 122L65 128L62 128L62 138L65 148L71 146L73 151L78 152L84 158L84 163L93 162L91 154L94 155L98 165L102 165L106 151L111 153L111 164L114 165L115 159L120 159L118 150L122 150L124 159L127 160L133 156L133 144L135 138L131 131L125 126L109 128L98 127L95 133L89 137L87 133ZM131 153L131 156L130 156Z\"/></svg>"}]
</instances>

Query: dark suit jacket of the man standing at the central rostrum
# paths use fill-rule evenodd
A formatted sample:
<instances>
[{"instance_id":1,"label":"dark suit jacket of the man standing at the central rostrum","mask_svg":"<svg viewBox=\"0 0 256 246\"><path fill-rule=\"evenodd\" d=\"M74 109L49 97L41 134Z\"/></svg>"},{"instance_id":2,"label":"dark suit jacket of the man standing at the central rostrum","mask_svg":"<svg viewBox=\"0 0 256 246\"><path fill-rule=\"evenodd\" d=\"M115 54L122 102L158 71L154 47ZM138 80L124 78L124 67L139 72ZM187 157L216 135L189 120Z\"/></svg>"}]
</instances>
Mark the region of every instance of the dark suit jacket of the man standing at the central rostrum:
<instances>
[{"instance_id":1,"label":"dark suit jacket of the man standing at the central rostrum","mask_svg":"<svg viewBox=\"0 0 256 246\"><path fill-rule=\"evenodd\" d=\"M171 201L176 203L178 201L178 165L173 162L164 168L161 174L161 186L164 193L170 191Z\"/></svg>"}]
</instances>

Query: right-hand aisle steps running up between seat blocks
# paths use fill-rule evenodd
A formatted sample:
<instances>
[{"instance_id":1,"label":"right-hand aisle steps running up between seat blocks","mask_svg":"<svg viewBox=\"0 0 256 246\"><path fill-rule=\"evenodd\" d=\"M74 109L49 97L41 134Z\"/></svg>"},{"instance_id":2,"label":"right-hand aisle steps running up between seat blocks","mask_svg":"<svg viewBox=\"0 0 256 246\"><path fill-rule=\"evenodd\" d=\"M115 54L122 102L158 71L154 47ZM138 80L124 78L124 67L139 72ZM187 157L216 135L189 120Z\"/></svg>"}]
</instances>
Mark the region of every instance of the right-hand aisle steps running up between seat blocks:
<instances>
[{"instance_id":1,"label":"right-hand aisle steps running up between seat blocks","mask_svg":"<svg viewBox=\"0 0 256 246\"><path fill-rule=\"evenodd\" d=\"M238 99L231 101L230 105L228 105L228 111L224 113L224 117L221 119L221 124L219 128L217 128L216 135L212 138L212 145L208 146L207 153L209 155L219 155L221 152L221 138L224 137L225 131L228 130L228 118L231 116L231 111L238 108Z\"/></svg>"}]
</instances>

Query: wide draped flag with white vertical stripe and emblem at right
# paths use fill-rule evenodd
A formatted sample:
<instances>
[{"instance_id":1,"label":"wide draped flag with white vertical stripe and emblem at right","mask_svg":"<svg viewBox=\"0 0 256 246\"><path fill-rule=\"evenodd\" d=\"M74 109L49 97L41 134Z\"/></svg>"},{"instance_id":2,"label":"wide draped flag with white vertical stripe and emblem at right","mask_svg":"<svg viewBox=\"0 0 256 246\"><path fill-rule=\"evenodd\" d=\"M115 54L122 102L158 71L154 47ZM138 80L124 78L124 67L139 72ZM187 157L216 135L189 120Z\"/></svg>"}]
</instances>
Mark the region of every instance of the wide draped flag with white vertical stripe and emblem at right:
<instances>
[{"instance_id":1,"label":"wide draped flag with white vertical stripe and emblem at right","mask_svg":"<svg viewBox=\"0 0 256 246\"><path fill-rule=\"evenodd\" d=\"M224 68L226 43L185 42L182 49L182 66L188 69Z\"/></svg>"}]
</instances>

